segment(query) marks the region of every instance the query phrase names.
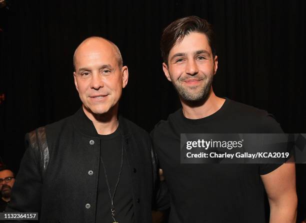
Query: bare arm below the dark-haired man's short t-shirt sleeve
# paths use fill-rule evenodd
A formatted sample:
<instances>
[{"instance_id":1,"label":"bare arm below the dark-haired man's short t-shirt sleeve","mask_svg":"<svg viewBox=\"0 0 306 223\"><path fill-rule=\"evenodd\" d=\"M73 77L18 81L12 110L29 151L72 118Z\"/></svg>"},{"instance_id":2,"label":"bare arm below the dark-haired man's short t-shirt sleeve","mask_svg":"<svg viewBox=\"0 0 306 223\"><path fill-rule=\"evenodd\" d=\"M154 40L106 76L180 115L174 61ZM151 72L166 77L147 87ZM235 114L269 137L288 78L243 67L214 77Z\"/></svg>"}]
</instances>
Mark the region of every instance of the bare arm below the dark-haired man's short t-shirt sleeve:
<instances>
[{"instance_id":1,"label":"bare arm below the dark-haired man's short t-shirt sleeve","mask_svg":"<svg viewBox=\"0 0 306 223\"><path fill-rule=\"evenodd\" d=\"M272 172L261 175L261 179L270 204L270 223L295 222L295 164L284 163Z\"/></svg>"}]
</instances>

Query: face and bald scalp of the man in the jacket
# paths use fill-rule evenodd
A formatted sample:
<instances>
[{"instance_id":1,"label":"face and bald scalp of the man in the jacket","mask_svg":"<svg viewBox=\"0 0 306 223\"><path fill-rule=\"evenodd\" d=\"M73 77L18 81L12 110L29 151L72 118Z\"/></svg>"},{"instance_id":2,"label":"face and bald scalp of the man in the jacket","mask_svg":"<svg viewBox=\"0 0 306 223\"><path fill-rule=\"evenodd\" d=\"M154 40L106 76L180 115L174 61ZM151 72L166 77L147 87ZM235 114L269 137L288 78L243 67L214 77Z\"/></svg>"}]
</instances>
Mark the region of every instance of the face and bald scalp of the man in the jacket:
<instances>
[{"instance_id":1,"label":"face and bald scalp of the man in the jacket","mask_svg":"<svg viewBox=\"0 0 306 223\"><path fill-rule=\"evenodd\" d=\"M128 79L127 67L120 67L118 57L115 46L98 37L84 40L75 50L74 83L89 118L117 107Z\"/></svg>"}]
</instances>

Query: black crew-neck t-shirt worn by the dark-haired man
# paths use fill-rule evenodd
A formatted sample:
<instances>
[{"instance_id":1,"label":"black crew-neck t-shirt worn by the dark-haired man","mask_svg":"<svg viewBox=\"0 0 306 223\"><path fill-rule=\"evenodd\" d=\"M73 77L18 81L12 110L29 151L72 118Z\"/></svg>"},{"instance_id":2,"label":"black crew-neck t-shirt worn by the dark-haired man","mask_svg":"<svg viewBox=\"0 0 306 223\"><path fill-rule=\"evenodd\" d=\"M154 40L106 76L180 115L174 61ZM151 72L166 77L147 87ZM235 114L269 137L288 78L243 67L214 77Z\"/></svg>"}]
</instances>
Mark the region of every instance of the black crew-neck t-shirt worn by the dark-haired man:
<instances>
[{"instance_id":1,"label":"black crew-neck t-shirt worn by the dark-haired man","mask_svg":"<svg viewBox=\"0 0 306 223\"><path fill-rule=\"evenodd\" d=\"M159 121L151 136L171 194L169 223L264 222L260 175L280 164L181 164L180 133L282 133L264 110L226 99L204 118L182 109Z\"/></svg>"}]
</instances>

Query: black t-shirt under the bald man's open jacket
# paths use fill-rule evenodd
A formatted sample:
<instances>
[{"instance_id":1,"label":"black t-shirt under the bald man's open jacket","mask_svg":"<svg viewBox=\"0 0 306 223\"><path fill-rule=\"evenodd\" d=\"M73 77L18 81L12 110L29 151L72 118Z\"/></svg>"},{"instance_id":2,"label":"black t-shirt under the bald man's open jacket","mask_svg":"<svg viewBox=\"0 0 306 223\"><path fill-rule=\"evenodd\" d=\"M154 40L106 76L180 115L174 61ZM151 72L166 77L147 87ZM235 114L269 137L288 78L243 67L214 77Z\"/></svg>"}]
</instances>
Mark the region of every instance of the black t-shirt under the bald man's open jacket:
<instances>
[{"instance_id":1,"label":"black t-shirt under the bald man's open jacket","mask_svg":"<svg viewBox=\"0 0 306 223\"><path fill-rule=\"evenodd\" d=\"M111 134L99 135L101 140L101 157L106 168L111 195L117 182L122 151L122 136L119 127ZM100 161L97 192L97 209L95 222L113 222L111 217L111 201L105 181L103 165ZM134 222L134 207L132 200L132 182L126 159L123 152L123 166L120 181L114 196L115 219L117 222Z\"/></svg>"}]
</instances>

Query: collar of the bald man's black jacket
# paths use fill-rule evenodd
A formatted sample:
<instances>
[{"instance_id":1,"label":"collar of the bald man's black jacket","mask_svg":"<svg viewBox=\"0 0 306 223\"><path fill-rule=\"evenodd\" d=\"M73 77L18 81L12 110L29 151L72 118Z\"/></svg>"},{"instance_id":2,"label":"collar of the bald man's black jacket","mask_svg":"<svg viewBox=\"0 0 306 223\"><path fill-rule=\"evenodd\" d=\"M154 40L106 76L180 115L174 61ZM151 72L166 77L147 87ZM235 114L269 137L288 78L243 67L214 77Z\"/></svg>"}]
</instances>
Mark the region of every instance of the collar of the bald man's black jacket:
<instances>
[{"instance_id":1,"label":"collar of the bald man's black jacket","mask_svg":"<svg viewBox=\"0 0 306 223\"><path fill-rule=\"evenodd\" d=\"M121 128L121 134L124 138L130 136L130 129L128 127L127 120L118 115L119 123ZM92 121L86 116L83 111L83 108L80 107L73 115L73 125L77 131L80 131L82 134L88 135L90 137L98 137L98 133L92 123Z\"/></svg>"}]
</instances>

